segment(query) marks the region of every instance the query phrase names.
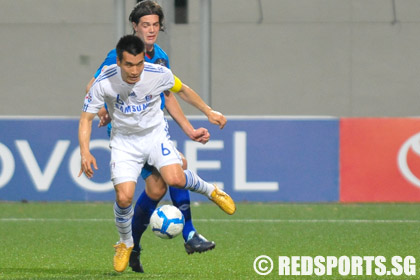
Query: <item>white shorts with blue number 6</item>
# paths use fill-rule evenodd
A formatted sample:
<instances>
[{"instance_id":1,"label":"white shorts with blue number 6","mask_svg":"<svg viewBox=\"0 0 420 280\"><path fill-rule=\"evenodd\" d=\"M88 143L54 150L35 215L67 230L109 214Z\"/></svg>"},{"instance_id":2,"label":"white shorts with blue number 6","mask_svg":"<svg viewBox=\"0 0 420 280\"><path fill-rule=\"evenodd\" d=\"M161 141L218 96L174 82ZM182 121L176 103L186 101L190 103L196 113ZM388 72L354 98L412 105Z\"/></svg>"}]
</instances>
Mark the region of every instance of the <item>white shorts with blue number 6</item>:
<instances>
[{"instance_id":1,"label":"white shorts with blue number 6","mask_svg":"<svg viewBox=\"0 0 420 280\"><path fill-rule=\"evenodd\" d=\"M155 129L144 134L115 134L111 138L111 180L115 185L137 182L147 162L160 170L161 167L180 164L182 159L165 129Z\"/></svg>"}]
</instances>

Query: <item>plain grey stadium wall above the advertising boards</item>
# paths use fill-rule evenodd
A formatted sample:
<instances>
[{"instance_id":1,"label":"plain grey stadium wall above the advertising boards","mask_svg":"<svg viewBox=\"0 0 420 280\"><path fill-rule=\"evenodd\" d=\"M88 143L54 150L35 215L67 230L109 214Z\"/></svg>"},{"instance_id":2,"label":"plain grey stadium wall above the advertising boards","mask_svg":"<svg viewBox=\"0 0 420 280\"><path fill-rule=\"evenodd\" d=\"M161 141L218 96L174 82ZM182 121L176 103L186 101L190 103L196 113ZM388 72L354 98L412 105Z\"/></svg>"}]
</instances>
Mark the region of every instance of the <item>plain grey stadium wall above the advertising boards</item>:
<instances>
[{"instance_id":1,"label":"plain grey stadium wall above the advertising boards","mask_svg":"<svg viewBox=\"0 0 420 280\"><path fill-rule=\"evenodd\" d=\"M160 2L169 20L159 43L199 89L200 1L188 1L187 24L173 23L172 0ZM78 116L116 42L113 9L0 0L0 114ZM211 27L210 103L227 115L418 115L420 1L212 0Z\"/></svg>"}]
</instances>

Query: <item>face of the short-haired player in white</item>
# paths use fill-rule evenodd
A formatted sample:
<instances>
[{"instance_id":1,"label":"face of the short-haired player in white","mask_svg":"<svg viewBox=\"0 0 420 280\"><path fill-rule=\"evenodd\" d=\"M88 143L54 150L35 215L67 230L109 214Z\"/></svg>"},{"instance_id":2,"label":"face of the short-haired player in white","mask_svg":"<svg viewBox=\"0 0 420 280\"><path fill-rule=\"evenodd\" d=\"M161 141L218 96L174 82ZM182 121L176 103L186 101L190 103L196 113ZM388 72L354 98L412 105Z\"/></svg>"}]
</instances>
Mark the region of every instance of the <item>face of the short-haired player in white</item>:
<instances>
[{"instance_id":1,"label":"face of the short-haired player in white","mask_svg":"<svg viewBox=\"0 0 420 280\"><path fill-rule=\"evenodd\" d=\"M122 79L128 84L135 84L140 81L144 69L144 52L138 55L123 52L123 58L121 61L117 58L117 64L121 68Z\"/></svg>"}]
</instances>

